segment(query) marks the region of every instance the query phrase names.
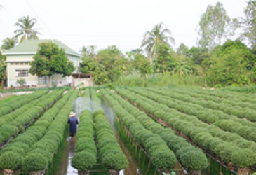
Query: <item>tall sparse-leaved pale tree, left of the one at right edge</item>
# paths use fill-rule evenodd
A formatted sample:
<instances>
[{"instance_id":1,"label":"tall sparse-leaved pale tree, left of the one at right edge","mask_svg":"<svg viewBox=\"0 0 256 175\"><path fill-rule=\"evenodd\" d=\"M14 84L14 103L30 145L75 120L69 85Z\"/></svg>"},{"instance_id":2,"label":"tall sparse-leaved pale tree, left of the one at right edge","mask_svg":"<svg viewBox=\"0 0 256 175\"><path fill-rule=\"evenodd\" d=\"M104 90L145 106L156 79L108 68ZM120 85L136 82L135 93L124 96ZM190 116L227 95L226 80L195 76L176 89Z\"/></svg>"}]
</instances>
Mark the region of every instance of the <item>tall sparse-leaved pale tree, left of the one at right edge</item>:
<instances>
[{"instance_id":1,"label":"tall sparse-leaved pale tree, left of the one at right edge","mask_svg":"<svg viewBox=\"0 0 256 175\"><path fill-rule=\"evenodd\" d=\"M220 45L227 36L234 35L236 27L238 20L229 18L222 3L217 2L216 6L208 5L199 22L198 44L211 50Z\"/></svg>"}]
</instances>

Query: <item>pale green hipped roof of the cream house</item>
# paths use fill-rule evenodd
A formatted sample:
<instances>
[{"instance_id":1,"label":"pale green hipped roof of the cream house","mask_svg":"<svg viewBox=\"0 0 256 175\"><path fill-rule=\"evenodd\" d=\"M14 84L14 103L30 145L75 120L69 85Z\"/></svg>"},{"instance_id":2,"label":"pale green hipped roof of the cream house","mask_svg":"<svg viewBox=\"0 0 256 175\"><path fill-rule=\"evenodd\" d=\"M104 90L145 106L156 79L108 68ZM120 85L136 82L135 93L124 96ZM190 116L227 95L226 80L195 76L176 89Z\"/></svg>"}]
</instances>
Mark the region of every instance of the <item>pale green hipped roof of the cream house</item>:
<instances>
[{"instance_id":1,"label":"pale green hipped roof of the cream house","mask_svg":"<svg viewBox=\"0 0 256 175\"><path fill-rule=\"evenodd\" d=\"M22 53L27 53L27 54L34 54L37 51L39 43L43 42L53 42L59 46L59 48L65 49L65 51L71 55L79 55L76 53L72 48L69 48L67 45L64 43L58 41L58 40L50 40L50 39L34 39L34 40L25 40L22 43L19 43L16 45L14 48L11 48L10 50L7 50L5 53L6 55L8 54L22 54Z\"/></svg>"}]
</instances>

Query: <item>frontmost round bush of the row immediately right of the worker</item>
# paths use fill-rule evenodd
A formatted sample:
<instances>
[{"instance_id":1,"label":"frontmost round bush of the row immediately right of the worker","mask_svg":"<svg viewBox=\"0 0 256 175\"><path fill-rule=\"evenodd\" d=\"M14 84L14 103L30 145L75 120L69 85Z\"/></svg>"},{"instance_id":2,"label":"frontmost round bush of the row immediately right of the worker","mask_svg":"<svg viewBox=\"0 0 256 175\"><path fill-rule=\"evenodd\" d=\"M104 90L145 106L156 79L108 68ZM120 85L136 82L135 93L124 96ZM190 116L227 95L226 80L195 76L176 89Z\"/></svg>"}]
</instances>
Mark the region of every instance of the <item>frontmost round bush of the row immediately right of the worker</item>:
<instances>
[{"instance_id":1,"label":"frontmost round bush of the row immediately right of the worker","mask_svg":"<svg viewBox=\"0 0 256 175\"><path fill-rule=\"evenodd\" d=\"M83 172L91 169L95 164L96 156L92 153L89 153L88 151L81 151L79 153L76 153L71 160L72 167Z\"/></svg>"}]
</instances>

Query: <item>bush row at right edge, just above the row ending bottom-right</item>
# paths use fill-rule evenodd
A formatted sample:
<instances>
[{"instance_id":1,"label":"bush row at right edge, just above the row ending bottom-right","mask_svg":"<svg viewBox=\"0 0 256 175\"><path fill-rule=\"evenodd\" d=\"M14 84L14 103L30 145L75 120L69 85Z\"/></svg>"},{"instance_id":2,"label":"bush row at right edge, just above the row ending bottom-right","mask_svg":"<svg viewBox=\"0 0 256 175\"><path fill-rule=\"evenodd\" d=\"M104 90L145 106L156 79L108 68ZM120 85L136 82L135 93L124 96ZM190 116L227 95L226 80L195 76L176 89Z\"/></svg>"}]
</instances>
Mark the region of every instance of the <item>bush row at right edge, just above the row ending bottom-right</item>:
<instances>
[{"instance_id":1,"label":"bush row at right edge, just above the row ending bottom-right","mask_svg":"<svg viewBox=\"0 0 256 175\"><path fill-rule=\"evenodd\" d=\"M152 92L156 92L158 94L157 98L156 95L154 95L154 93L152 94ZM168 99L167 93L168 92L160 92L159 90L153 89L150 89L150 91L142 90L142 94L144 94L145 97L151 97L151 99L154 99L156 102L166 104L168 107L177 109L182 113L187 113L189 115L196 116L197 118L203 120L206 123L213 123L214 125L217 125L218 127L222 128L222 130L234 132L248 140L256 141L256 123L252 123L248 120L237 118L233 115L228 115L227 113L223 113L222 111L201 108L201 106L198 106L197 104L193 104L191 102L187 103L181 102L177 99ZM161 98L166 98L166 101L164 101Z\"/></svg>"}]
</instances>

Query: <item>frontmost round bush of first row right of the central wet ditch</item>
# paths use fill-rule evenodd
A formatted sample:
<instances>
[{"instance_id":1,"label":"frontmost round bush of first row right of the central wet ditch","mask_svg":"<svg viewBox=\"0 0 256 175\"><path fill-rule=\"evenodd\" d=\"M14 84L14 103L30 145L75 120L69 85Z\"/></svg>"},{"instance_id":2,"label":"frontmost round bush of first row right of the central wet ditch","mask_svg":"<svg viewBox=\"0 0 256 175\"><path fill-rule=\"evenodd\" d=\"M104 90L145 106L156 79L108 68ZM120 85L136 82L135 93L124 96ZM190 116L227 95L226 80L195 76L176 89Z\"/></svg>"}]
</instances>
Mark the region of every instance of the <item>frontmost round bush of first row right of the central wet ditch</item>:
<instances>
[{"instance_id":1,"label":"frontmost round bush of first row right of the central wet ditch","mask_svg":"<svg viewBox=\"0 0 256 175\"><path fill-rule=\"evenodd\" d=\"M151 155L151 160L153 164L160 169L173 169L177 164L177 159L173 151L170 150L155 151L154 154Z\"/></svg>"}]
</instances>

